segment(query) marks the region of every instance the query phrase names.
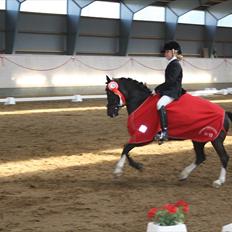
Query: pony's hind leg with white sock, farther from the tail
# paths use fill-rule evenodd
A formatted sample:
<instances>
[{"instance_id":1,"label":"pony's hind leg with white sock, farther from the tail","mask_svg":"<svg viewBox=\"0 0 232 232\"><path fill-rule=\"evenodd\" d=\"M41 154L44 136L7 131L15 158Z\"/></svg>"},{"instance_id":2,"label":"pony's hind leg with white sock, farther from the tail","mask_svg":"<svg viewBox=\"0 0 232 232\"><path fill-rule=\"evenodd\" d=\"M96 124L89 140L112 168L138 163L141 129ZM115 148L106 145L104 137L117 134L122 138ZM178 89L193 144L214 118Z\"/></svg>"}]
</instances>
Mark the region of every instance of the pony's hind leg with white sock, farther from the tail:
<instances>
[{"instance_id":1,"label":"pony's hind leg with white sock, farther from the tail","mask_svg":"<svg viewBox=\"0 0 232 232\"><path fill-rule=\"evenodd\" d=\"M205 153L204 153L204 146L206 143L200 143L200 142L193 142L193 147L196 154L196 160L195 162L191 163L189 166L187 166L180 174L180 180L186 180L188 176L192 173L192 171L199 166L202 162L205 161Z\"/></svg>"}]
</instances>

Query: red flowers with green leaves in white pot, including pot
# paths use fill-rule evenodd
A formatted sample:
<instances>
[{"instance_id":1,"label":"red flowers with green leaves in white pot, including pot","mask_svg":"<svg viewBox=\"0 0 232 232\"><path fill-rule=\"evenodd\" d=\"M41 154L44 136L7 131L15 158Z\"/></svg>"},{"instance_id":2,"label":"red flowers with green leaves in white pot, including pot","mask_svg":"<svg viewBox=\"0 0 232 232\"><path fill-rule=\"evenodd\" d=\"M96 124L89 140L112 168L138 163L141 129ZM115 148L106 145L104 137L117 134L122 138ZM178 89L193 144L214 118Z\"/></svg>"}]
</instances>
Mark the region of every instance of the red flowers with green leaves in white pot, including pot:
<instances>
[{"instance_id":1,"label":"red flowers with green leaves in white pot, including pot","mask_svg":"<svg viewBox=\"0 0 232 232\"><path fill-rule=\"evenodd\" d=\"M174 204L165 204L160 208L151 208L147 216L147 232L187 232L185 222L189 205L183 200Z\"/></svg>"}]
</instances>

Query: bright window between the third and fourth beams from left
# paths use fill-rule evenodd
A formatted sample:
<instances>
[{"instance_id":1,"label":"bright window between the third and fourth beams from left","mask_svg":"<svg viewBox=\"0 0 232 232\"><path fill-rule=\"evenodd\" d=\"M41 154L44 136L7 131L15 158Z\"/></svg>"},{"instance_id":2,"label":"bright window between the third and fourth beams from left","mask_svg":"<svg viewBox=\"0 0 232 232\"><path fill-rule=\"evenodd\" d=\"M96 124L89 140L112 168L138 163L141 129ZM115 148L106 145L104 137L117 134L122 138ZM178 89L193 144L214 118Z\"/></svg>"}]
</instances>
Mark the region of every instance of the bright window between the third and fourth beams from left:
<instances>
[{"instance_id":1,"label":"bright window between the third and fourth beams from left","mask_svg":"<svg viewBox=\"0 0 232 232\"><path fill-rule=\"evenodd\" d=\"M141 21L165 21L165 8L148 6L134 14L134 20Z\"/></svg>"}]
</instances>

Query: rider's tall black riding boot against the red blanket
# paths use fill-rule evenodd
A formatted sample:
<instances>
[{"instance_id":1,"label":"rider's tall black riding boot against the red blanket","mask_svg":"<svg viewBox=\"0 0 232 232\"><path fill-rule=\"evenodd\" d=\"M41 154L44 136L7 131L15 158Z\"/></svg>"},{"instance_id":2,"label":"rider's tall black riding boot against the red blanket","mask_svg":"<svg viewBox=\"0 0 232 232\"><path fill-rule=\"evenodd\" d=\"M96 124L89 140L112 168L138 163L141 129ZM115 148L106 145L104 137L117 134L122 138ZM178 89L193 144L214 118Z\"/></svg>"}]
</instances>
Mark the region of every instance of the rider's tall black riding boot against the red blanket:
<instances>
[{"instance_id":1,"label":"rider's tall black riding boot against the red blanket","mask_svg":"<svg viewBox=\"0 0 232 232\"><path fill-rule=\"evenodd\" d=\"M156 135L155 139L159 141L159 144L162 144L163 141L168 140L167 112L164 106L160 108L159 115L160 115L161 132L158 135Z\"/></svg>"}]
</instances>

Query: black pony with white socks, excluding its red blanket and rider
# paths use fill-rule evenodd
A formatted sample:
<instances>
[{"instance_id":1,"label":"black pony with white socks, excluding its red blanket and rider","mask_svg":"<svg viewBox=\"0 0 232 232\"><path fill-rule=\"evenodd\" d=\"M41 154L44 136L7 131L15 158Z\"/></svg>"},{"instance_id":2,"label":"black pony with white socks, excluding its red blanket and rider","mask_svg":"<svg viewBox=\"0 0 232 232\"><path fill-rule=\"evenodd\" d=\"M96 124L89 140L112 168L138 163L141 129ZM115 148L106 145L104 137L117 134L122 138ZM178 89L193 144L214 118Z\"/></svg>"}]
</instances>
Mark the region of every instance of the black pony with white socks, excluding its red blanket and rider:
<instances>
[{"instance_id":1,"label":"black pony with white socks, excluding its red blanket and rider","mask_svg":"<svg viewBox=\"0 0 232 232\"><path fill-rule=\"evenodd\" d=\"M119 78L111 80L108 76L106 82L106 93L107 93L107 115L110 117L115 117L118 115L118 111L121 107L126 106L128 115L134 112L144 101L152 95L151 90L147 88L143 83L133 80L131 78ZM154 105L155 108L155 105ZM229 130L229 119L232 120L231 112L224 112L224 123L223 129L219 131L217 137L211 141L214 149L216 150L220 161L221 161L221 171L219 178L213 182L214 187L220 187L225 183L226 180L226 168L229 160L229 156L224 148L223 142L226 138L227 131ZM130 156L129 152L134 147L143 146L151 141L146 141L142 143L127 143L121 154L120 160L117 162L116 168L114 170L115 175L121 175L123 172L123 167L127 159L130 166L136 168L137 170L143 169L143 164L134 161ZM199 166L203 161L205 161L204 146L206 142L193 141L193 147L196 154L195 161L184 168L180 174L180 180L185 180L190 175L190 173Z\"/></svg>"}]
</instances>

